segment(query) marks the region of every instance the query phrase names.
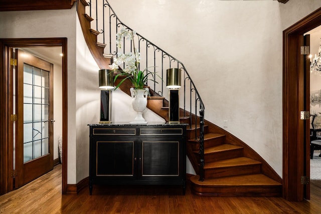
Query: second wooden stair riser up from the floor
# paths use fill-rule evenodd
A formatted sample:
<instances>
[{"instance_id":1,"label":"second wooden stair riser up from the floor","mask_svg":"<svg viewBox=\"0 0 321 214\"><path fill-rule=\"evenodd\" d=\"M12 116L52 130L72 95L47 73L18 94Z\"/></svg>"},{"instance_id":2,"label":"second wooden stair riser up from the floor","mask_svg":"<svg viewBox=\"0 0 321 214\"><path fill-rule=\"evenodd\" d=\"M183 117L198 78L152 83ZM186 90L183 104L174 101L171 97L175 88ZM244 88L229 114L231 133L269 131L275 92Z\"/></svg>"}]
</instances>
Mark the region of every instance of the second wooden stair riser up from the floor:
<instances>
[{"instance_id":1,"label":"second wooden stair riser up from the floor","mask_svg":"<svg viewBox=\"0 0 321 214\"><path fill-rule=\"evenodd\" d=\"M205 179L232 176L232 175L241 175L241 174L257 174L257 173L260 173L260 171L261 171L260 164L237 166L237 167L210 168L210 169L205 169Z\"/></svg>"}]
</instances>

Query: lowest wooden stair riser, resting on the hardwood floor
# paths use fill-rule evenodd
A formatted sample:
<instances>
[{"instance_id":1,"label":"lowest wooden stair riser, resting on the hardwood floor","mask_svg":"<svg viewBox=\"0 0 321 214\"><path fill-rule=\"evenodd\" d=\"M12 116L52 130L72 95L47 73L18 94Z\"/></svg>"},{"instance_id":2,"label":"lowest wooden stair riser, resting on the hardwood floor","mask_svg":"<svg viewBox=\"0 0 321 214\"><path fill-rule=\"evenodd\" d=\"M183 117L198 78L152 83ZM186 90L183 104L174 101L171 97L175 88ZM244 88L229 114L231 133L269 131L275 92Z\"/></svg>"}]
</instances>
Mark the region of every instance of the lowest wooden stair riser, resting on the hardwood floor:
<instances>
[{"instance_id":1,"label":"lowest wooden stair riser, resting on the hardwood floor","mask_svg":"<svg viewBox=\"0 0 321 214\"><path fill-rule=\"evenodd\" d=\"M282 186L198 186L194 194L202 196L282 196Z\"/></svg>"}]
</instances>

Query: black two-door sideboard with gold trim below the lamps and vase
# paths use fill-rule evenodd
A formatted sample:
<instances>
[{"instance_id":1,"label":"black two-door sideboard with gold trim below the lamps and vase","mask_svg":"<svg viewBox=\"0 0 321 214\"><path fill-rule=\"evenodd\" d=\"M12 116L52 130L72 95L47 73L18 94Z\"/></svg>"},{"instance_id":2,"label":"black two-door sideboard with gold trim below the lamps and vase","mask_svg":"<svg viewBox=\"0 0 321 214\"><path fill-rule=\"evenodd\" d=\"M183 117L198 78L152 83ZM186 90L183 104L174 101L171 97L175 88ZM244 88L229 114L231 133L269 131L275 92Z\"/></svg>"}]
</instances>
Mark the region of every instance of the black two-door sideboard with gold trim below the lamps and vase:
<instances>
[{"instance_id":1,"label":"black two-door sideboard with gold trim below the lamps and vase","mask_svg":"<svg viewBox=\"0 0 321 214\"><path fill-rule=\"evenodd\" d=\"M93 184L186 185L187 124L89 124Z\"/></svg>"}]
</instances>

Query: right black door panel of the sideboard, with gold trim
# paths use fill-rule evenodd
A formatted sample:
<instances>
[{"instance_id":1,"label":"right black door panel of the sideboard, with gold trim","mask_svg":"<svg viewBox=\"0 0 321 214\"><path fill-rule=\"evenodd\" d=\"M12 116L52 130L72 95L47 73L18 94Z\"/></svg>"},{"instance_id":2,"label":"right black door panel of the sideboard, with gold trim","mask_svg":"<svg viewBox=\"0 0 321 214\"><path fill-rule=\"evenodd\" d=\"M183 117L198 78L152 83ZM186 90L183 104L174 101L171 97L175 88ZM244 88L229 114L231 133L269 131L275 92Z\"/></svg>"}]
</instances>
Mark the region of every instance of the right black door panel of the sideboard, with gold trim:
<instances>
[{"instance_id":1,"label":"right black door panel of the sideboard, with gold trim","mask_svg":"<svg viewBox=\"0 0 321 214\"><path fill-rule=\"evenodd\" d=\"M179 176L179 141L143 141L142 176Z\"/></svg>"}]
</instances>

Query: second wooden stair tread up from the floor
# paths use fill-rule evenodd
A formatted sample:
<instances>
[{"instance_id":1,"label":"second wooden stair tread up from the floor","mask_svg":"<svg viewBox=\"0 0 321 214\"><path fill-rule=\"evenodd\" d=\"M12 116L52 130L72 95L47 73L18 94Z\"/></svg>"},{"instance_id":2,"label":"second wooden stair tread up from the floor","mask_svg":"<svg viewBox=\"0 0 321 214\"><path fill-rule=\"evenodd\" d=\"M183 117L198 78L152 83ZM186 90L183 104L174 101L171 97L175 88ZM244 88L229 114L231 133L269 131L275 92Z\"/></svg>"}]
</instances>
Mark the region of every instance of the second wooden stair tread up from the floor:
<instances>
[{"instance_id":1,"label":"second wooden stair tread up from the floor","mask_svg":"<svg viewBox=\"0 0 321 214\"><path fill-rule=\"evenodd\" d=\"M247 158L247 157L236 157L236 158L217 160L217 161L205 163L204 169L256 165L256 164L261 164L261 162L257 160L253 160L251 158Z\"/></svg>"}]
</instances>

